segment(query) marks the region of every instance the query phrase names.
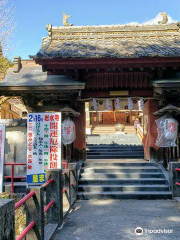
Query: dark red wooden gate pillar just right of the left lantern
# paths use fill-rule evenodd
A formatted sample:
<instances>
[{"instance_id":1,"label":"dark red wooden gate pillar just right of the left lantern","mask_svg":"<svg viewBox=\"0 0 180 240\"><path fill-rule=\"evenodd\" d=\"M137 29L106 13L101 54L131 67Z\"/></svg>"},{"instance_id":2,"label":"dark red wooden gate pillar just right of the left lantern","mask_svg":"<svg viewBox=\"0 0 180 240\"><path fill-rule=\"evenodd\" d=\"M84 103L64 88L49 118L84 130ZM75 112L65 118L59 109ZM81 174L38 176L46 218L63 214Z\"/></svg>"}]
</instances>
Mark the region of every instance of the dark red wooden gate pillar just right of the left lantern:
<instances>
[{"instance_id":1,"label":"dark red wooden gate pillar just right of the left lantern","mask_svg":"<svg viewBox=\"0 0 180 240\"><path fill-rule=\"evenodd\" d=\"M86 159L86 113L85 103L77 102L76 111L80 113L79 117L74 118L74 124L76 127L76 140L73 143L74 147L74 159L85 160Z\"/></svg>"}]
</instances>

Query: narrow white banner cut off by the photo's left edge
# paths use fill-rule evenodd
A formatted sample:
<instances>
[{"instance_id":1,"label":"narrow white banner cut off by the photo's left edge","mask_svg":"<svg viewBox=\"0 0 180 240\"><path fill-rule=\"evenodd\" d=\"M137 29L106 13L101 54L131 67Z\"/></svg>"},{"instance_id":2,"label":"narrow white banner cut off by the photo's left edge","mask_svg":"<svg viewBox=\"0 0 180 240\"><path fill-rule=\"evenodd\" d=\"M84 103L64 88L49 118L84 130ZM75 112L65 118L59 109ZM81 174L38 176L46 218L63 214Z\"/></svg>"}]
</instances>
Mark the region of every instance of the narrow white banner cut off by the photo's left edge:
<instances>
[{"instance_id":1,"label":"narrow white banner cut off by the photo's left edge","mask_svg":"<svg viewBox=\"0 0 180 240\"><path fill-rule=\"evenodd\" d=\"M6 125L0 125L0 193L3 192Z\"/></svg>"}]
</instances>

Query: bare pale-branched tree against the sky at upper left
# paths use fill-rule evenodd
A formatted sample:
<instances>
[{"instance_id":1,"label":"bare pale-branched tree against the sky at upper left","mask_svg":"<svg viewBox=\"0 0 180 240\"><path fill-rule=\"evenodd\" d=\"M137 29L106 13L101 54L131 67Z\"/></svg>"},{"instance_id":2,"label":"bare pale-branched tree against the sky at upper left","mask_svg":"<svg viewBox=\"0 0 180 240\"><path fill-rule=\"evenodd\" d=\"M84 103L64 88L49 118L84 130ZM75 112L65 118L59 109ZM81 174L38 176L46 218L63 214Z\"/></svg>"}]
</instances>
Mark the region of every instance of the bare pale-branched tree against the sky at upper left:
<instances>
[{"instance_id":1,"label":"bare pale-branched tree against the sky at upper left","mask_svg":"<svg viewBox=\"0 0 180 240\"><path fill-rule=\"evenodd\" d=\"M9 40L15 28L14 5L11 0L0 0L0 43L4 51L10 49Z\"/></svg>"}]
</instances>

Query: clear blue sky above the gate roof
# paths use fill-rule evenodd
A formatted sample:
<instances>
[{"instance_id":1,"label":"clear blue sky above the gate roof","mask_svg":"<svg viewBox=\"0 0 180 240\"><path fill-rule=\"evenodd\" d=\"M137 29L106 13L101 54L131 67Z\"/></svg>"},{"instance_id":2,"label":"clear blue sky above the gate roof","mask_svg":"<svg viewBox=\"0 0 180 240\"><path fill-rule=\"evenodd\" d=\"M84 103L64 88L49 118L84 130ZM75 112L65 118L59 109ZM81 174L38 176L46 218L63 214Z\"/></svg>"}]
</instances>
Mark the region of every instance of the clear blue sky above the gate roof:
<instances>
[{"instance_id":1,"label":"clear blue sky above the gate roof","mask_svg":"<svg viewBox=\"0 0 180 240\"><path fill-rule=\"evenodd\" d=\"M144 23L160 12L167 12L180 21L180 0L10 0L15 5L16 28L11 37L7 56L29 55L38 52L46 25L62 26L62 11L72 15L68 21L80 25L112 25L129 22Z\"/></svg>"}]
</instances>

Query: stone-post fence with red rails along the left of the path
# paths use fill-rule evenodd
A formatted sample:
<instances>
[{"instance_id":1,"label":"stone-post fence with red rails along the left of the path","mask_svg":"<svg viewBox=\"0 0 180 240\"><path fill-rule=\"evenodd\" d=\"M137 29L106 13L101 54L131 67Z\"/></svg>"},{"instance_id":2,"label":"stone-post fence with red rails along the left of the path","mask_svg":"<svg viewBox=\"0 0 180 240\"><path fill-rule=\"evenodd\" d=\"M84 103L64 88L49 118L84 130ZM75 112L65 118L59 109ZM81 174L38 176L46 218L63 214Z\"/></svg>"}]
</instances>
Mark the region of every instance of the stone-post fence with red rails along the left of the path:
<instances>
[{"instance_id":1,"label":"stone-post fence with red rails along the left of the path","mask_svg":"<svg viewBox=\"0 0 180 240\"><path fill-rule=\"evenodd\" d=\"M46 183L27 189L27 195L14 205L13 200L0 199L0 240L14 240L14 212L25 206L26 225L16 238L22 240L48 240L63 223L65 215L77 196L77 166L46 172Z\"/></svg>"}]
</instances>

